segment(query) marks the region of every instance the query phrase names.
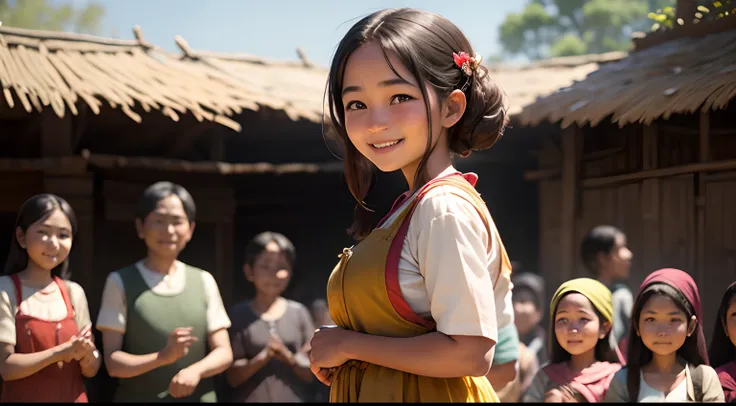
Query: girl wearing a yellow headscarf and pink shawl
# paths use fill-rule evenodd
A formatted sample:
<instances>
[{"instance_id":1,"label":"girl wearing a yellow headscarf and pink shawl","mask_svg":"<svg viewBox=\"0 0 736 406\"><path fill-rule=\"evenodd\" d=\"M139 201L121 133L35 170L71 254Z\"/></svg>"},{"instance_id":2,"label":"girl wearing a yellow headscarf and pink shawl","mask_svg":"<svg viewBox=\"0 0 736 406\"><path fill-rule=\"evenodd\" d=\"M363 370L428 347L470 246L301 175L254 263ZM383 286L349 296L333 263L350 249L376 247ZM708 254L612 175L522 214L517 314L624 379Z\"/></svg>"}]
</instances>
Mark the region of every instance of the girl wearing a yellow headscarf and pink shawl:
<instances>
[{"instance_id":1,"label":"girl wearing a yellow headscarf and pink shawl","mask_svg":"<svg viewBox=\"0 0 736 406\"><path fill-rule=\"evenodd\" d=\"M590 278L563 283L550 304L550 363L534 377L524 402L544 402L545 393L560 385L579 392L588 402L602 402L621 357L611 339L611 291Z\"/></svg>"}]
</instances>

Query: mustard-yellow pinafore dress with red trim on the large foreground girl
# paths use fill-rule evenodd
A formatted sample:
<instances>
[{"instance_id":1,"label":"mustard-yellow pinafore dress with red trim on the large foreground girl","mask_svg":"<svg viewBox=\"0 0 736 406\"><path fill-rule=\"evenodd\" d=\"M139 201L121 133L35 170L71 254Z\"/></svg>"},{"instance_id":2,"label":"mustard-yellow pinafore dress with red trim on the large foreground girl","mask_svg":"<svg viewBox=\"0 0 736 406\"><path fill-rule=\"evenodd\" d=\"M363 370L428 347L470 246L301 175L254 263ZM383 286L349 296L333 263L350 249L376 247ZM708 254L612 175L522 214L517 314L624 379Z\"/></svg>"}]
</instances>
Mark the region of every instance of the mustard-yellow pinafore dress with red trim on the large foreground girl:
<instances>
[{"instance_id":1,"label":"mustard-yellow pinafore dress with red trim on the large foreground girl","mask_svg":"<svg viewBox=\"0 0 736 406\"><path fill-rule=\"evenodd\" d=\"M475 176L464 176L469 175ZM414 313L404 300L398 264L416 204L441 185L452 185L477 197L471 203L484 213L479 205L484 207L485 203L459 173L425 185L390 227L376 228L353 249L343 250L327 283L330 315L339 327L384 337L414 337L435 331L434 321ZM487 221L485 215L482 217ZM502 273L508 274L511 268L503 247L501 252ZM346 362L334 374L330 402L498 402L485 377L432 378L357 360Z\"/></svg>"}]
</instances>

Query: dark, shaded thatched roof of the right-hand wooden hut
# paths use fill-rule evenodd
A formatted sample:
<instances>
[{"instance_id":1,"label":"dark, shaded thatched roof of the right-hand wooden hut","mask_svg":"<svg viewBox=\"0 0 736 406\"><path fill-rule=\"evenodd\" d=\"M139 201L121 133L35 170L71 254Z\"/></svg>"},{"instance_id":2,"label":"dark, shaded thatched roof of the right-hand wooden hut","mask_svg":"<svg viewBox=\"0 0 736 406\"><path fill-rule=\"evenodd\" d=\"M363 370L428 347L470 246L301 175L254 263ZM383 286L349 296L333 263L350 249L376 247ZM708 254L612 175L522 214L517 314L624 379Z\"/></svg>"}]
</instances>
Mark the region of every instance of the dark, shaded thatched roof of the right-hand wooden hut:
<instances>
[{"instance_id":1,"label":"dark, shaded thatched roof of the right-hand wooden hut","mask_svg":"<svg viewBox=\"0 0 736 406\"><path fill-rule=\"evenodd\" d=\"M612 116L623 126L699 109L725 109L736 97L736 18L723 20L719 27L730 24L725 32L709 33L701 24L688 28L701 30L704 36L675 31L669 41L639 47L585 80L526 106L518 119L530 126L561 120L567 127L594 126Z\"/></svg>"}]
</instances>

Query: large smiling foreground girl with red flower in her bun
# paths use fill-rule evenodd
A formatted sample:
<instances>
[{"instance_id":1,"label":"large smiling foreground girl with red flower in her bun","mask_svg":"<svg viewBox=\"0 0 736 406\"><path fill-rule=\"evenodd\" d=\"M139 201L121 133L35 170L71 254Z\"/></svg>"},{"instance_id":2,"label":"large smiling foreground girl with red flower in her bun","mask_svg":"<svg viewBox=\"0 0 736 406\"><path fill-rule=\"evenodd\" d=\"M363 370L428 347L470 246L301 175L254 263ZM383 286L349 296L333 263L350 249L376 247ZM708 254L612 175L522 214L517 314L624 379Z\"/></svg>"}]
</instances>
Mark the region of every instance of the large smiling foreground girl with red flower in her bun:
<instances>
[{"instance_id":1,"label":"large smiling foreground girl with red flower in her bun","mask_svg":"<svg viewBox=\"0 0 736 406\"><path fill-rule=\"evenodd\" d=\"M339 327L315 333L312 371L332 402L497 401L484 375L513 325L510 265L477 176L452 156L501 136L501 89L450 21L392 9L348 31L328 93L360 242L330 276ZM363 201L374 167L408 186L375 229Z\"/></svg>"}]
</instances>

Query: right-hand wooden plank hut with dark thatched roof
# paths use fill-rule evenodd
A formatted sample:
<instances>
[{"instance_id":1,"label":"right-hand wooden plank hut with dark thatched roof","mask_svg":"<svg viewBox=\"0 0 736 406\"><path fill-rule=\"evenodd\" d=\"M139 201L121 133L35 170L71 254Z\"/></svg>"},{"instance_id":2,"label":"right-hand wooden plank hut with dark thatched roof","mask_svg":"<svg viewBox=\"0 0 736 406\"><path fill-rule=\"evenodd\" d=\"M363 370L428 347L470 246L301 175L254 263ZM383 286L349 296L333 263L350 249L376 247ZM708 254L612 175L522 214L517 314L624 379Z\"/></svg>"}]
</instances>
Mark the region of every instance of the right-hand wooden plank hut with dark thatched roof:
<instances>
[{"instance_id":1,"label":"right-hand wooden plank hut with dark thatched roof","mask_svg":"<svg viewBox=\"0 0 736 406\"><path fill-rule=\"evenodd\" d=\"M541 273L584 275L579 243L615 225L634 252L631 287L664 267L686 270L705 323L736 279L736 16L689 21L634 39L634 50L518 115L539 139Z\"/></svg>"}]
</instances>

